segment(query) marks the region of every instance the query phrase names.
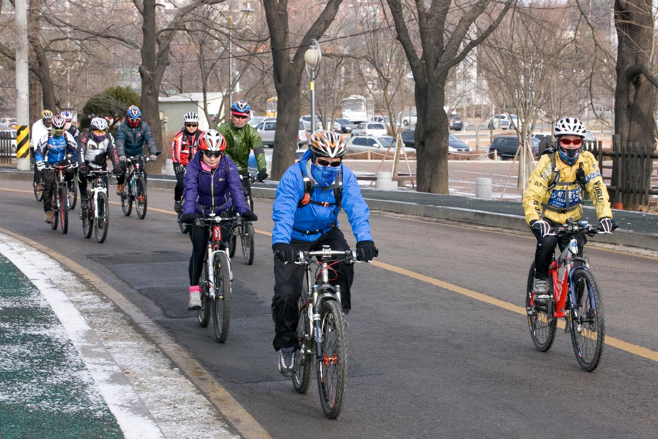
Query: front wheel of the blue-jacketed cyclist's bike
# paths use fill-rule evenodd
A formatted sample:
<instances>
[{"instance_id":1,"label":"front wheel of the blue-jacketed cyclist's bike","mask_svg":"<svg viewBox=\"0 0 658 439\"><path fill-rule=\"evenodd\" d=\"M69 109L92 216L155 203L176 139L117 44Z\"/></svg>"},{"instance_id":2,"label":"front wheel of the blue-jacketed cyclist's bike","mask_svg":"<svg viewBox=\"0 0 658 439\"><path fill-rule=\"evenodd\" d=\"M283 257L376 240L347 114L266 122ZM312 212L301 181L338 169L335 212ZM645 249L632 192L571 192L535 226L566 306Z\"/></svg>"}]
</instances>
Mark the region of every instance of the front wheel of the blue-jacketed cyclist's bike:
<instances>
[{"instance_id":1,"label":"front wheel of the blue-jacketed cyclist's bike","mask_svg":"<svg viewBox=\"0 0 658 439\"><path fill-rule=\"evenodd\" d=\"M318 390L324 415L340 415L347 388L347 335L345 320L338 302L326 300L320 311L322 358L318 360Z\"/></svg>"}]
</instances>

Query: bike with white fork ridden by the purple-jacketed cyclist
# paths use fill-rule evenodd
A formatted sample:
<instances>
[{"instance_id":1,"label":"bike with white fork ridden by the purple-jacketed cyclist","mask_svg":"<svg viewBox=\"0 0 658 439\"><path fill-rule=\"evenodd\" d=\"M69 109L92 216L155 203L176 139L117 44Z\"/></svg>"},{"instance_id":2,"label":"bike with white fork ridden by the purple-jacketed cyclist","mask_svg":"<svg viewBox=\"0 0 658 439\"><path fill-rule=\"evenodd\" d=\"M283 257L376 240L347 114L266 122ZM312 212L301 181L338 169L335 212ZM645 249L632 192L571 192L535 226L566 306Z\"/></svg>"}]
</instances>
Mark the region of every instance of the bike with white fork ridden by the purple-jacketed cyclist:
<instances>
[{"instance_id":1,"label":"bike with white fork ridden by the purple-jacketed cyclist","mask_svg":"<svg viewBox=\"0 0 658 439\"><path fill-rule=\"evenodd\" d=\"M208 218L197 218L195 227L208 229L208 244L203 259L203 272L201 273L201 308L197 312L199 325L202 328L208 326L211 308L213 311L213 330L215 338L224 343L228 337L231 323L231 298L233 291L231 283L233 274L231 262L222 250L222 229L220 223L233 221L234 218L222 218L211 214Z\"/></svg>"}]
</instances>

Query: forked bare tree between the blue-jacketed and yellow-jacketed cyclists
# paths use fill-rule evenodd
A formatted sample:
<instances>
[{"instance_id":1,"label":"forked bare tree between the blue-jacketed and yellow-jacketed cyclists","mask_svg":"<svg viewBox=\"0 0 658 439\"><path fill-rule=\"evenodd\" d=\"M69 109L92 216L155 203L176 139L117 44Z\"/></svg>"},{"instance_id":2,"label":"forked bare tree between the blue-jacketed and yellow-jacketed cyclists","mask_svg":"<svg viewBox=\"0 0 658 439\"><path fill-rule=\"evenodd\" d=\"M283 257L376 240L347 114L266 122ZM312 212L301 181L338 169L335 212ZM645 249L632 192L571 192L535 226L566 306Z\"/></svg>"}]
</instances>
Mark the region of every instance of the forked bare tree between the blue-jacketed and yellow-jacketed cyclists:
<instances>
[{"instance_id":1,"label":"forked bare tree between the blue-jacketed and yellow-jacketed cyclists","mask_svg":"<svg viewBox=\"0 0 658 439\"><path fill-rule=\"evenodd\" d=\"M418 0L413 10L401 0L388 0L397 40L415 81L417 187L421 192L448 193L446 78L498 26L511 1L469 1L461 7L460 2L452 6L451 0L431 4ZM412 32L410 27L416 23Z\"/></svg>"}]
</instances>

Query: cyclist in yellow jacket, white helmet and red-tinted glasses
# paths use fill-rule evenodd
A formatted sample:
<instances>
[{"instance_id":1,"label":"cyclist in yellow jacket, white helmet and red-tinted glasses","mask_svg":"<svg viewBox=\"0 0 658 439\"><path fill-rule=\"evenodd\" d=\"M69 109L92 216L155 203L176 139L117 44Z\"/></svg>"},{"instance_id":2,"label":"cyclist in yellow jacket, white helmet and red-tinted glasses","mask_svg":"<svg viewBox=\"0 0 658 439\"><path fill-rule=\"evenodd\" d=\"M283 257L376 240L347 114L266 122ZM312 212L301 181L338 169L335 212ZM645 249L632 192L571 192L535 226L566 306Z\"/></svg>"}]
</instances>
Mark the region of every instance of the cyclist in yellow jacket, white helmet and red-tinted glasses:
<instances>
[{"instance_id":1,"label":"cyclist in yellow jacket, white helmet and red-tinted glasses","mask_svg":"<svg viewBox=\"0 0 658 439\"><path fill-rule=\"evenodd\" d=\"M614 229L610 198L599 165L591 152L582 150L585 133L585 125L575 117L557 121L553 127L555 147L540 158L523 194L526 222L537 238L534 293L540 300L547 298L548 269L558 244L551 229L568 218L580 219L584 190L596 208L599 228L603 233L612 233ZM559 241L561 250L569 244L567 240Z\"/></svg>"}]
</instances>

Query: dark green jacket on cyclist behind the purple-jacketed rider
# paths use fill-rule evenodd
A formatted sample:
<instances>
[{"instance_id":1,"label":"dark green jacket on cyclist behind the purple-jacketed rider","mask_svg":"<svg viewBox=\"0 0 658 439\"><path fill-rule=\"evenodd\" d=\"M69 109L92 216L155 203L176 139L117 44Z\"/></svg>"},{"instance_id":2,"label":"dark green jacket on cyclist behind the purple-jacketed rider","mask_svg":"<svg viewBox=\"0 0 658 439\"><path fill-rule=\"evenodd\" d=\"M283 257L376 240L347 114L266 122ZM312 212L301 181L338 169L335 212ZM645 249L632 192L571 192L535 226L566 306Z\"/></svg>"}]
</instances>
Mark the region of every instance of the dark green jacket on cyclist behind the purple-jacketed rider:
<instances>
[{"instance_id":1,"label":"dark green jacket on cyclist behind the purple-jacketed rider","mask_svg":"<svg viewBox=\"0 0 658 439\"><path fill-rule=\"evenodd\" d=\"M245 124L241 129L233 126L231 121L222 123L217 127L217 131L222 133L226 138L226 155L238 165L238 171L244 173L249 167L249 152L253 150L258 163L258 170L265 171L267 167L265 161L265 150L263 150L263 140L254 127Z\"/></svg>"}]
</instances>

